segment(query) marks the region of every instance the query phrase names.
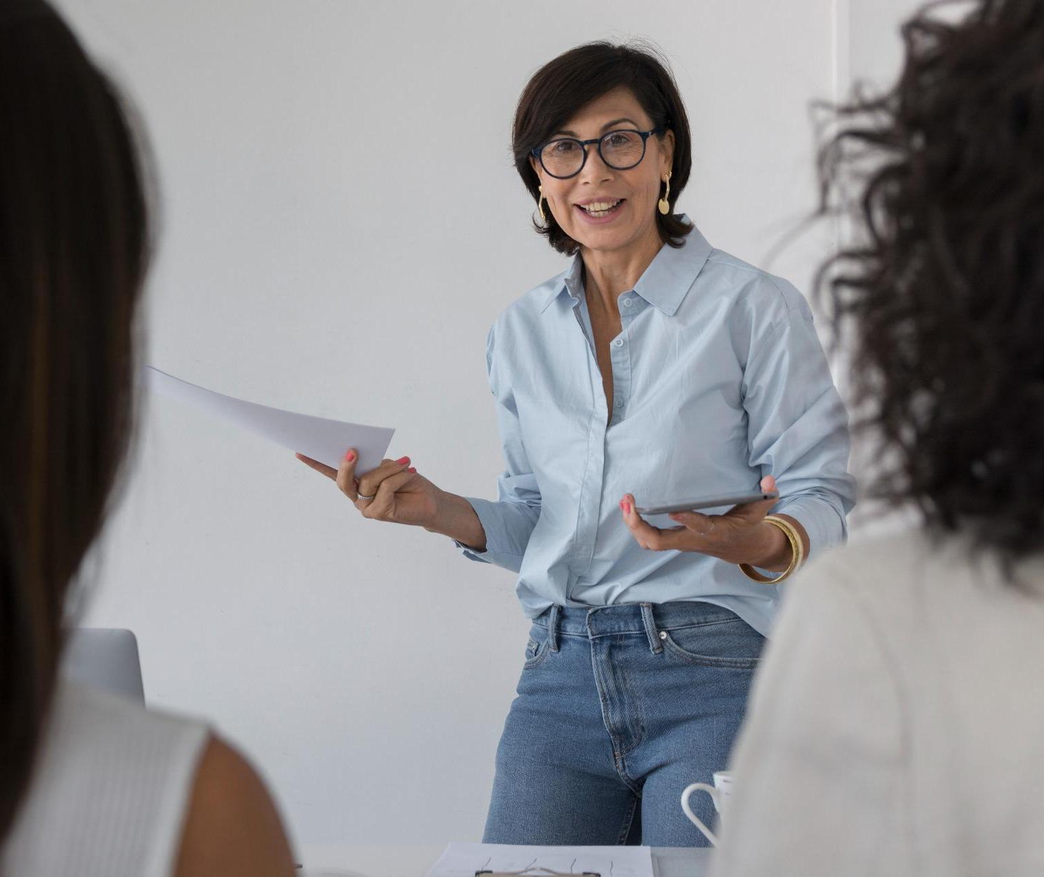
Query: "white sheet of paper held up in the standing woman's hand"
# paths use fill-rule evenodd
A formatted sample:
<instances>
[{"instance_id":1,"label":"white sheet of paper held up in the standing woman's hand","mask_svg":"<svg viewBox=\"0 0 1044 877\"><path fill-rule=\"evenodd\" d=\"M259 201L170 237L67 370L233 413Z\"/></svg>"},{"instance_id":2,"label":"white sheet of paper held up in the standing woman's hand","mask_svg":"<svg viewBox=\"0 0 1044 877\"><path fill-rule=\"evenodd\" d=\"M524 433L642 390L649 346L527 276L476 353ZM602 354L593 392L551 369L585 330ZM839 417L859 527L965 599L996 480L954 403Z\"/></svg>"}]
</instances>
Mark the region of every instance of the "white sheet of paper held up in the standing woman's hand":
<instances>
[{"instance_id":1,"label":"white sheet of paper held up in the standing woman's hand","mask_svg":"<svg viewBox=\"0 0 1044 877\"><path fill-rule=\"evenodd\" d=\"M384 458L395 433L394 429L387 427L362 426L245 402L183 381L151 365L147 369L147 378L149 386L157 393L181 399L209 413L224 418L243 429L291 451L300 451L333 469L338 467L349 448L355 448L359 452L359 472L375 469Z\"/></svg>"}]
</instances>

